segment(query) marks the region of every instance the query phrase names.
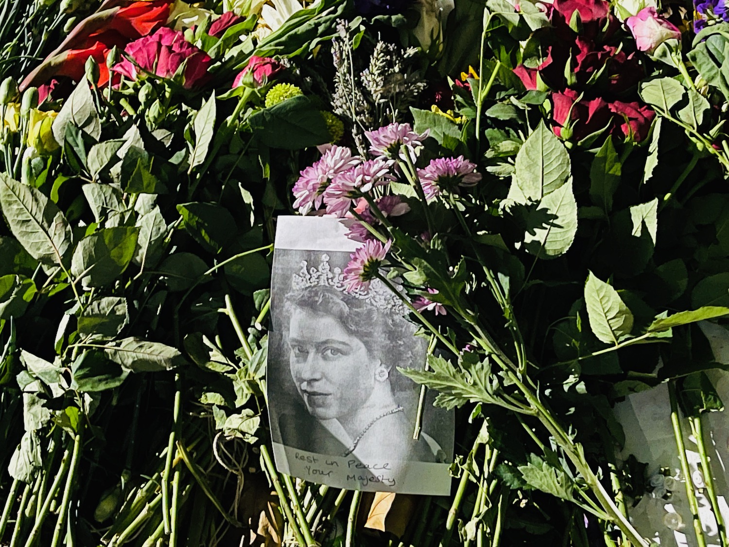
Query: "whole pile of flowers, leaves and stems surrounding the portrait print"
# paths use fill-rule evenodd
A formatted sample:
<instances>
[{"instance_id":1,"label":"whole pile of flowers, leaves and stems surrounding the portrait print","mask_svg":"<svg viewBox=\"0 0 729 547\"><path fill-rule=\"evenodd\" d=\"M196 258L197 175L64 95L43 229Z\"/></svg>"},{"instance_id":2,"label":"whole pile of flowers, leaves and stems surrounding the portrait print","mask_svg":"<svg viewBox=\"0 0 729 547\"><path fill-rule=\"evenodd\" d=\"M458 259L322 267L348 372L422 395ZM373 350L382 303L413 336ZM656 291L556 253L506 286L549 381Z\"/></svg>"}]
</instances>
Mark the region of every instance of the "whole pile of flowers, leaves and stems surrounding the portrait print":
<instances>
[{"instance_id":1,"label":"whole pile of flowers, leaves and stems surrounding the portrait print","mask_svg":"<svg viewBox=\"0 0 729 547\"><path fill-rule=\"evenodd\" d=\"M612 408L667 383L671 526L707 544L690 431L729 546L698 325L729 314L723 0L0 14L0 545L648 547L631 509L671 494ZM402 281L451 497L276 472L279 214L356 220L348 290Z\"/></svg>"}]
</instances>

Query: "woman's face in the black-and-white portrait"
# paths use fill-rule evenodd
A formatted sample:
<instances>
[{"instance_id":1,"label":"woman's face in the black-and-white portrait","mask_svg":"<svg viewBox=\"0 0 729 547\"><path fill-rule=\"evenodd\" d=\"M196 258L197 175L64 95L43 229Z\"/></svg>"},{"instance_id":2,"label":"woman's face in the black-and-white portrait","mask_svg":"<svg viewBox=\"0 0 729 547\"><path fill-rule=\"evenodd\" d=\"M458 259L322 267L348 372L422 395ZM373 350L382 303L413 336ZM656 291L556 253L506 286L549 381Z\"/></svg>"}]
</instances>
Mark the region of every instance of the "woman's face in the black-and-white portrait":
<instances>
[{"instance_id":1,"label":"woman's face in the black-and-white portrait","mask_svg":"<svg viewBox=\"0 0 729 547\"><path fill-rule=\"evenodd\" d=\"M379 362L335 317L295 308L289 322L289 365L309 413L332 419L367 401Z\"/></svg>"}]
</instances>

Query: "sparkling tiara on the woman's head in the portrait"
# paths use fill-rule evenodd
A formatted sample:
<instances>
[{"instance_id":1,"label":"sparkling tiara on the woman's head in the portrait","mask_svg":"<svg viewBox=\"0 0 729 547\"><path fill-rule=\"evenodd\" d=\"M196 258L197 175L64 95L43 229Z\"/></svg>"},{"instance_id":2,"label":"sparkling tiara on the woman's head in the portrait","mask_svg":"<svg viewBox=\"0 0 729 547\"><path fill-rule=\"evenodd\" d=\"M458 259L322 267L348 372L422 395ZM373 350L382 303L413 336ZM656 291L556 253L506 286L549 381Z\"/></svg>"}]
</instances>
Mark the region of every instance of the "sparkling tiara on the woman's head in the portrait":
<instances>
[{"instance_id":1,"label":"sparkling tiara on the woman's head in the portrait","mask_svg":"<svg viewBox=\"0 0 729 547\"><path fill-rule=\"evenodd\" d=\"M302 290L307 287L332 287L340 292L347 292L360 300L367 300L368 303L375 308L383 311L392 311L399 315L408 314L408 308L402 303L402 300L379 279L373 279L370 282L369 289L358 287L356 290L348 292L344 284L344 274L341 268L332 268L329 263L329 255L321 254L321 261L318 267L309 267L306 260L302 260L301 269L298 274L292 277L292 288L294 290ZM397 290L402 289L398 285Z\"/></svg>"}]
</instances>

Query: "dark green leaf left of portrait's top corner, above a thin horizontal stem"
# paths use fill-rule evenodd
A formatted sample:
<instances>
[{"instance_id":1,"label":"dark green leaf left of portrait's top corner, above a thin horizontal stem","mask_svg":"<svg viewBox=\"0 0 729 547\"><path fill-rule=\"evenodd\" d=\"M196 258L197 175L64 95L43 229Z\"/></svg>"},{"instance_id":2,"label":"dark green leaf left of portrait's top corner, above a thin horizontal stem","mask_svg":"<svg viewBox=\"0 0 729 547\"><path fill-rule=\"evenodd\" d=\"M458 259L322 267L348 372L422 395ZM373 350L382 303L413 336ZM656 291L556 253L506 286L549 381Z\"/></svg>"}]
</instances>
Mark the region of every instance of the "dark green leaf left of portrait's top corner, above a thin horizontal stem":
<instances>
[{"instance_id":1,"label":"dark green leaf left of portrait's top corner, above a thin horizontal stem","mask_svg":"<svg viewBox=\"0 0 729 547\"><path fill-rule=\"evenodd\" d=\"M238 233L235 219L225 207L213 203L181 203L177 212L182 215L187 232L207 252L220 252Z\"/></svg>"}]
</instances>

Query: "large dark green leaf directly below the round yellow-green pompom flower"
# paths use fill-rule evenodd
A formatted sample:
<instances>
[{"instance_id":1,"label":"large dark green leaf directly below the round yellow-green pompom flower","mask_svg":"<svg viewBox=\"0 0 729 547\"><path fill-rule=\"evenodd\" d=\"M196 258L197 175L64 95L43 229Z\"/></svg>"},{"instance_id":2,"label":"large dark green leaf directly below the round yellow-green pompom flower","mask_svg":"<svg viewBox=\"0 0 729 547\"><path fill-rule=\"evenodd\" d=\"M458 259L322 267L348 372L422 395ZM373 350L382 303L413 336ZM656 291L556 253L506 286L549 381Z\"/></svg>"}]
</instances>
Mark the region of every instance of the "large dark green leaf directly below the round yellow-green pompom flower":
<instances>
[{"instance_id":1,"label":"large dark green leaf directly below the round yellow-green pompom flower","mask_svg":"<svg viewBox=\"0 0 729 547\"><path fill-rule=\"evenodd\" d=\"M255 112L249 123L254 135L271 148L300 150L331 140L324 117L303 95Z\"/></svg>"}]
</instances>

